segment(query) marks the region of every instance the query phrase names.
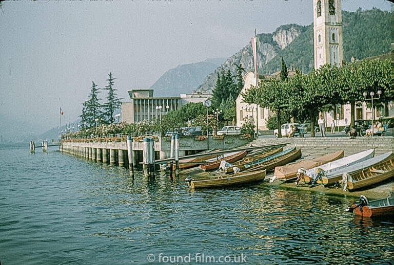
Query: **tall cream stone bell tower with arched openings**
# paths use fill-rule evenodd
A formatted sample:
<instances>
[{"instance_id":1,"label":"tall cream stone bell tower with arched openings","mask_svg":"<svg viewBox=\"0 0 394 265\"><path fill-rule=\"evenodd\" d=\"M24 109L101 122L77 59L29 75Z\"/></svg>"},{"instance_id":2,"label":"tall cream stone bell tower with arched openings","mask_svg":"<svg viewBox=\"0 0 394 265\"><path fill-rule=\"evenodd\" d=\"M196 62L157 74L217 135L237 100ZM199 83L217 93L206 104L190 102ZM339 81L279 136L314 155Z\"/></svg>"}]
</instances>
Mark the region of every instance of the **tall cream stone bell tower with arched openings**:
<instances>
[{"instance_id":1,"label":"tall cream stone bell tower with arched openings","mask_svg":"<svg viewBox=\"0 0 394 265\"><path fill-rule=\"evenodd\" d=\"M341 0L313 0L314 69L342 64Z\"/></svg>"}]
</instances>

